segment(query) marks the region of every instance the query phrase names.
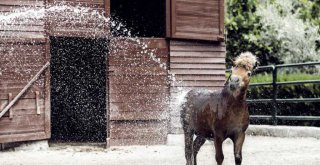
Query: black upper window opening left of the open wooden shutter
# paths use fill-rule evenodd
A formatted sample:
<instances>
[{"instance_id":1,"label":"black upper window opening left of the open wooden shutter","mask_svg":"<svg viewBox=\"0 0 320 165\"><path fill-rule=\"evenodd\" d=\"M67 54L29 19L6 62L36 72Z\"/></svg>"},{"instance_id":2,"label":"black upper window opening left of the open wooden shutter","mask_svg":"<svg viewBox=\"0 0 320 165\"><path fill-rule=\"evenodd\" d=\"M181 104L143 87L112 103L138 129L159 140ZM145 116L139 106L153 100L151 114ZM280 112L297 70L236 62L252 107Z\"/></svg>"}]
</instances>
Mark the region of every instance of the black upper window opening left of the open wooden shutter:
<instances>
[{"instance_id":1,"label":"black upper window opening left of the open wooden shutter","mask_svg":"<svg viewBox=\"0 0 320 165\"><path fill-rule=\"evenodd\" d=\"M165 37L164 0L111 0L111 16L126 25L135 37ZM126 30L113 29L114 36Z\"/></svg>"}]
</instances>

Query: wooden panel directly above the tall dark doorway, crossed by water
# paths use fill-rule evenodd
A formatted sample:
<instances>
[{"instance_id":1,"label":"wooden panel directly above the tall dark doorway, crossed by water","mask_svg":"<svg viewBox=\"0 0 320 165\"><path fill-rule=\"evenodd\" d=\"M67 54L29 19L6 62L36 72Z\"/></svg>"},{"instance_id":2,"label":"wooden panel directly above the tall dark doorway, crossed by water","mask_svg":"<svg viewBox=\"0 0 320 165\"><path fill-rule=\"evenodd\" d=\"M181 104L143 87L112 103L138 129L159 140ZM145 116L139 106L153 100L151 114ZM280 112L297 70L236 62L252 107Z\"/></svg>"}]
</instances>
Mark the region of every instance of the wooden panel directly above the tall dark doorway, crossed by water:
<instances>
[{"instance_id":1,"label":"wooden panel directly above the tall dark doorway, crossed by water","mask_svg":"<svg viewBox=\"0 0 320 165\"><path fill-rule=\"evenodd\" d=\"M105 38L109 34L109 0L49 0L47 24L51 36ZM73 7L70 7L73 6Z\"/></svg>"}]
</instances>

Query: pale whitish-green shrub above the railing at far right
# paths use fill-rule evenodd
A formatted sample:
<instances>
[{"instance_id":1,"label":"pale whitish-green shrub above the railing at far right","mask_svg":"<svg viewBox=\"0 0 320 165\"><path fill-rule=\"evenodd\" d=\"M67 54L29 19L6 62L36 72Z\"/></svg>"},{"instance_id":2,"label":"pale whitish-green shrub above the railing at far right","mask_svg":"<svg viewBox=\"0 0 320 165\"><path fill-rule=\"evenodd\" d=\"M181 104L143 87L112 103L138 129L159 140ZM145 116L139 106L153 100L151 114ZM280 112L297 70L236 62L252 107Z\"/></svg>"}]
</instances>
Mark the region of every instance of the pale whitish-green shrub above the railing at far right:
<instances>
[{"instance_id":1,"label":"pale whitish-green shrub above the railing at far right","mask_svg":"<svg viewBox=\"0 0 320 165\"><path fill-rule=\"evenodd\" d=\"M261 17L263 31L260 43L278 44L275 56L283 63L320 60L316 42L320 40L319 27L301 19L299 0L278 0L260 3L257 15Z\"/></svg>"}]
</instances>

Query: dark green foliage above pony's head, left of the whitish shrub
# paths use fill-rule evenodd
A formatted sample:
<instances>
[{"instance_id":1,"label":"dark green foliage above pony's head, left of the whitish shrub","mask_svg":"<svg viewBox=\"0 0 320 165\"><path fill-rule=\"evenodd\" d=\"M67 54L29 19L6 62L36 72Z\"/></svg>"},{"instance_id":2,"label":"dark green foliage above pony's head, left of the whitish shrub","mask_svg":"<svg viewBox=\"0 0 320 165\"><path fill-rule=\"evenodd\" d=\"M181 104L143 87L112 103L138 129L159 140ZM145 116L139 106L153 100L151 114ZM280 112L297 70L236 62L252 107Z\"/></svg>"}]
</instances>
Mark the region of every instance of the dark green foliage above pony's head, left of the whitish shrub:
<instances>
[{"instance_id":1,"label":"dark green foliage above pony's head, left of the whitish shrub","mask_svg":"<svg viewBox=\"0 0 320 165\"><path fill-rule=\"evenodd\" d=\"M261 17L256 14L258 1L227 0L226 3L227 65L231 66L232 59L244 51L257 55L261 65L277 63L272 56L276 45L259 43L263 27Z\"/></svg>"}]
</instances>

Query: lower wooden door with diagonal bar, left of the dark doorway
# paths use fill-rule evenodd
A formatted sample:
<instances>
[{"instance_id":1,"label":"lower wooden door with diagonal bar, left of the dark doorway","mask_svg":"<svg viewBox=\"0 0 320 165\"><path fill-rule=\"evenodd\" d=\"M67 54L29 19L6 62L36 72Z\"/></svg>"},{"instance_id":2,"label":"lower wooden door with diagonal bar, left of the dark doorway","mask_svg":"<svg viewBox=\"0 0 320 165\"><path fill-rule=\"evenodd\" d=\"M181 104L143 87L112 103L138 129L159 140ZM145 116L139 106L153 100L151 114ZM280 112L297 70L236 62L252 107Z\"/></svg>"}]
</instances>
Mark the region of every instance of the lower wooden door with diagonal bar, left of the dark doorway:
<instances>
[{"instance_id":1,"label":"lower wooden door with diagonal bar, left of the dark doorway","mask_svg":"<svg viewBox=\"0 0 320 165\"><path fill-rule=\"evenodd\" d=\"M0 111L48 61L47 44L0 44ZM0 119L0 143L50 137L48 77L47 70Z\"/></svg>"}]
</instances>

